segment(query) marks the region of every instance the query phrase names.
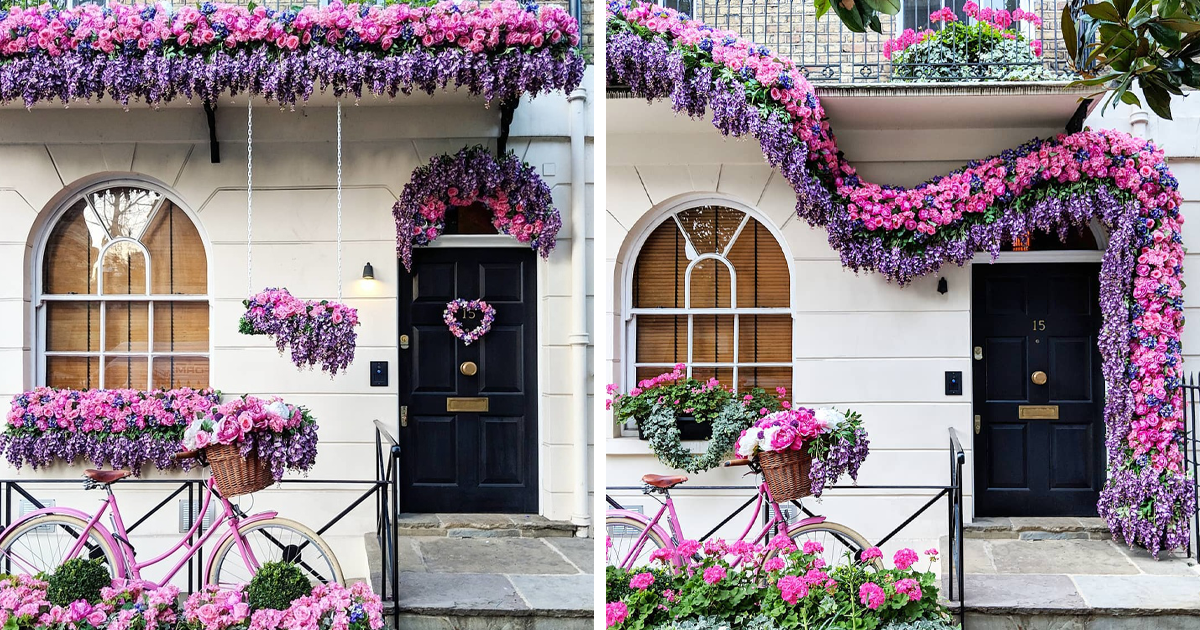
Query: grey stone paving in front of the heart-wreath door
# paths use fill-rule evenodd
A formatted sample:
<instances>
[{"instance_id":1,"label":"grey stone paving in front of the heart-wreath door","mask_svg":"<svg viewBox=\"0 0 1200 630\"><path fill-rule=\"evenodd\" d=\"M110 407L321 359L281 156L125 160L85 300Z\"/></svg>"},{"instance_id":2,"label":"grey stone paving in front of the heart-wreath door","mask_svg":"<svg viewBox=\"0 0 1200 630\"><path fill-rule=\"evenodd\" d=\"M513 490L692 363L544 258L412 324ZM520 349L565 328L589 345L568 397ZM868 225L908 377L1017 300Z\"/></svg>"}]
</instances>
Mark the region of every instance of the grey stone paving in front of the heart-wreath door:
<instances>
[{"instance_id":1,"label":"grey stone paving in front of the heart-wreath door","mask_svg":"<svg viewBox=\"0 0 1200 630\"><path fill-rule=\"evenodd\" d=\"M376 586L378 542L367 534ZM592 630L590 538L400 536L396 630Z\"/></svg>"}]
</instances>

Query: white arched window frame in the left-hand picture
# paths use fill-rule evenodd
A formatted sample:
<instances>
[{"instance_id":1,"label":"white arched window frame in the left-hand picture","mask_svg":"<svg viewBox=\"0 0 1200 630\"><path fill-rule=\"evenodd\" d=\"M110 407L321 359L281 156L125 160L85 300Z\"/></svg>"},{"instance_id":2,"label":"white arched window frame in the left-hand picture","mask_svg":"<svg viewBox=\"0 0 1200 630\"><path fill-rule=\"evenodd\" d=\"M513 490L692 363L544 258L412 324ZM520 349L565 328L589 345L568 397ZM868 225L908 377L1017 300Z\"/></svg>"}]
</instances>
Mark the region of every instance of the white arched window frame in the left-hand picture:
<instances>
[{"instance_id":1,"label":"white arched window frame in the left-hand picture","mask_svg":"<svg viewBox=\"0 0 1200 630\"><path fill-rule=\"evenodd\" d=\"M160 199L158 199L157 204L154 206L154 209L148 215L146 223L145 223L145 226L143 226L140 233L137 234L136 239L131 238L131 236L118 236L118 238L114 239L112 236L112 234L109 233L109 228L107 226L104 226L103 221L100 221L100 212L97 212L96 209L92 208L92 204L91 204L90 197L92 194L95 194L96 192L100 192L100 191L103 191L103 190L107 190L107 188L119 188L119 187L143 188L143 190L146 190L146 191L150 191L150 192L154 192L154 193L157 193L160 196ZM42 277L42 272L43 272L44 264L46 264L46 247L47 247L47 245L49 242L50 234L53 234L54 228L59 224L59 222L62 220L62 217L66 215L66 212L71 208L73 208L79 200L83 200L84 203L86 203L86 211L91 212L91 215L92 215L89 218L94 220L94 221L97 221L98 226L104 230L106 236L109 239L109 241L106 242L103 247L101 247L100 256L97 256L95 264L102 265L103 260L104 260L104 254L108 252L109 248L112 248L118 242L132 242L142 252L142 254L145 257L145 288L144 288L144 293L142 293L142 294L132 294L132 295L131 294L106 294L104 293L104 274L103 272L97 274L96 294L71 295L71 294L47 294L47 293L43 292L43 288L44 288L43 280L44 278ZM150 292L151 280L154 277L154 275L152 275L154 260L151 260L150 252L142 244L142 239L145 236L145 230L154 223L154 220L158 215L158 211L162 210L162 206L166 205L167 202L170 202L172 204L174 204L175 208L178 208L179 210L181 210L184 212L184 215L187 217L187 220L192 222L192 227L196 229L196 232L197 232L197 234L198 234L198 236L200 239L200 246L204 248L205 264L206 265L211 265L212 264L212 254L209 251L209 241L205 238L205 234L204 234L204 232L202 229L200 222L197 220L196 215L190 209L187 209L187 206L185 206L179 200L179 197L176 194L172 193L164 186L161 186L161 185L158 185L156 182L151 182L151 181L143 180L143 179L102 179L102 180L98 180L95 184L91 184L89 186L79 188L78 191L76 191L74 193L72 193L70 196L64 197L64 202L54 210L50 220L47 221L46 224L43 226L43 229L42 229L42 233L41 233L41 239L40 239L38 244L37 244L37 250L36 250L37 254L32 257L32 269L31 269L31 277L34 278L34 300L32 300L32 306L31 307L32 307L32 322L35 323L34 337L35 337L35 342L36 342L35 352L34 352L34 361L35 361L34 362L34 368L35 368L35 383L37 385L46 385L46 362L47 362L46 359L48 356L82 356L82 358L89 358L89 359L90 358L97 359L98 362L100 362L97 389L107 386L107 384L104 383L104 376L106 376L104 372L106 372L106 362L109 359L124 359L124 358L145 359L146 360L146 383L145 383L145 389L148 391L151 390L152 386L154 386L154 362L155 362L156 359L167 359L167 360L169 360L169 359L178 359L178 358L185 358L185 359L208 359L209 360L209 376L210 376L210 379L211 379L211 370L212 370L212 364L211 364L211 356L212 356L212 319L211 319L211 314L212 313L211 313L211 308L212 308L212 302L210 300L210 292L211 292L210 284L211 284L211 278L212 278L212 269L211 269L211 266L206 266L205 270L204 270L205 287L208 288L208 290L204 294L178 294L176 295L176 294L169 294L169 293L168 294L155 294L155 293ZM73 302L73 304L92 302L92 304L98 304L100 305L100 324L98 324L98 326L100 326L100 340L98 340L98 346L97 346L98 350L90 352L90 350L49 350L48 349L48 347L47 347L48 346L48 343L47 343L48 342L48 340L47 340L47 328L48 326L47 326L47 322L46 322L47 312L48 312L47 305L48 304L53 304L53 302ZM106 317L107 317L107 306L108 306L109 302L145 302L146 304L146 318L148 318L148 322L146 322L146 349L145 349L145 352L127 352L127 350L122 352L122 350L108 350L108 349L106 349L106 347L107 347L106 336L108 334L107 326L106 326ZM155 305L156 304L161 304L161 302L196 302L196 304L205 304L205 305L209 306L209 336L208 336L209 337L209 347L208 347L208 349L205 352L194 352L194 350L193 352L169 352L169 350L168 352L156 352L155 350L155 347L154 347L154 310L155 310ZM136 385L137 385L136 383L131 383L130 384L130 386L136 386ZM124 388L124 385L122 385L122 388Z\"/></svg>"}]
</instances>

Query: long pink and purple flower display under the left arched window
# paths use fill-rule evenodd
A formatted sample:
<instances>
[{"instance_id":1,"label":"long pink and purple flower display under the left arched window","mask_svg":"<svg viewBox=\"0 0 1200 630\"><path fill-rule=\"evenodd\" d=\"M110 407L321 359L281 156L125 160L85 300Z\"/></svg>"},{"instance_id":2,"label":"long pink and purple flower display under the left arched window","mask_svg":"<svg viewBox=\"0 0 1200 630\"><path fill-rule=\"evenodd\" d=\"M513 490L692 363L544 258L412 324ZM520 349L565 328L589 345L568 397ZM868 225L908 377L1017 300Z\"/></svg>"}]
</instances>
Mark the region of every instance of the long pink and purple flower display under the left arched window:
<instances>
[{"instance_id":1,"label":"long pink and purple flower display under the left arched window","mask_svg":"<svg viewBox=\"0 0 1200 630\"><path fill-rule=\"evenodd\" d=\"M139 473L191 468L176 462L184 430L196 414L220 403L214 390L68 390L37 388L13 396L0 450L16 468L83 458Z\"/></svg>"}]
</instances>

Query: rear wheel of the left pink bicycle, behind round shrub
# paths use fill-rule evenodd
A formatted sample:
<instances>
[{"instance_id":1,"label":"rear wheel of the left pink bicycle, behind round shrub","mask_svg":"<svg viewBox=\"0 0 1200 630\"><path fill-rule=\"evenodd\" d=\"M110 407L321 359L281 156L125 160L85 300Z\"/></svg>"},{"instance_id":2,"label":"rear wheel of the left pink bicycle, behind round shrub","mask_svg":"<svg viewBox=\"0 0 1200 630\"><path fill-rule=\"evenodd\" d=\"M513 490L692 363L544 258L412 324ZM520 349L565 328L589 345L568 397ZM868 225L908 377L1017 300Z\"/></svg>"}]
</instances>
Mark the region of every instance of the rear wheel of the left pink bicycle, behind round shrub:
<instances>
[{"instance_id":1,"label":"rear wheel of the left pink bicycle, behind round shrub","mask_svg":"<svg viewBox=\"0 0 1200 630\"><path fill-rule=\"evenodd\" d=\"M71 550L88 532L79 553ZM116 575L116 550L98 532L88 529L83 518L47 514L18 524L0 536L0 572L7 575L50 574L71 558L98 558L108 574Z\"/></svg>"}]
</instances>

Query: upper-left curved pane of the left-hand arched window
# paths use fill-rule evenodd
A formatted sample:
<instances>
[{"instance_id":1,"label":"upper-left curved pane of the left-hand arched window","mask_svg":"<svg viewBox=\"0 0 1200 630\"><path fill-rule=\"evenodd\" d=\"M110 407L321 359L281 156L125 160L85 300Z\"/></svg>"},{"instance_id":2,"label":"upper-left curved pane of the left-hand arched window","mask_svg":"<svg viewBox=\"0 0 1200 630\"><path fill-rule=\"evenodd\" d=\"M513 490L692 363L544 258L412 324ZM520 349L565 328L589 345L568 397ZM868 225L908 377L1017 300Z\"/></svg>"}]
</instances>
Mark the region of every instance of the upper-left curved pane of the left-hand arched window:
<instances>
[{"instance_id":1,"label":"upper-left curved pane of the left-hand arched window","mask_svg":"<svg viewBox=\"0 0 1200 630\"><path fill-rule=\"evenodd\" d=\"M42 260L42 290L49 294L96 293L96 259L108 238L104 228L78 202L54 224Z\"/></svg>"}]
</instances>

